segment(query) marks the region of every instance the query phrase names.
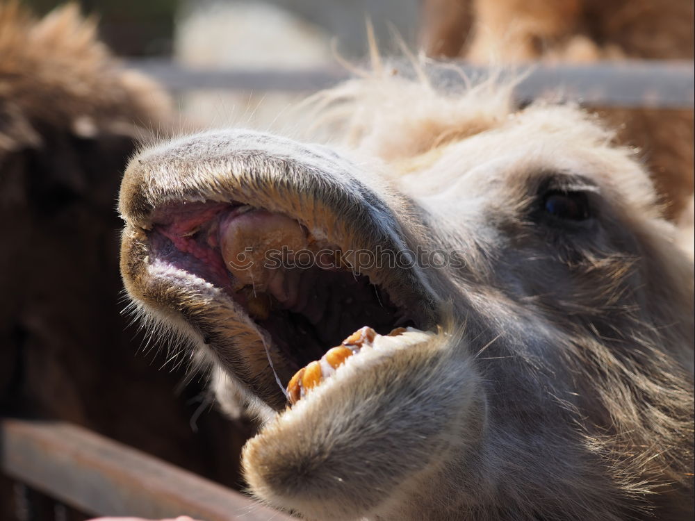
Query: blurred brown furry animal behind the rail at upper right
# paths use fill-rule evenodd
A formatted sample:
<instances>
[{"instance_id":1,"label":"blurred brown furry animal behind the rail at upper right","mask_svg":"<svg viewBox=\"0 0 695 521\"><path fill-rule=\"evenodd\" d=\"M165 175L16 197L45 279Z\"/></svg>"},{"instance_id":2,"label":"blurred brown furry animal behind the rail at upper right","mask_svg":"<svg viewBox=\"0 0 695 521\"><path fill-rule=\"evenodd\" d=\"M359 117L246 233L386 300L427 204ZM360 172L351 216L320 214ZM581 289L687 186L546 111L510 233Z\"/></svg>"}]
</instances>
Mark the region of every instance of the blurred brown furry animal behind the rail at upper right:
<instances>
[{"instance_id":1,"label":"blurred brown furry animal behind the rail at upper right","mask_svg":"<svg viewBox=\"0 0 695 521\"><path fill-rule=\"evenodd\" d=\"M475 63L591 63L630 58L692 60L692 0L430 0L431 56ZM619 140L639 147L667 216L677 220L694 188L692 110L594 107Z\"/></svg>"}]
</instances>

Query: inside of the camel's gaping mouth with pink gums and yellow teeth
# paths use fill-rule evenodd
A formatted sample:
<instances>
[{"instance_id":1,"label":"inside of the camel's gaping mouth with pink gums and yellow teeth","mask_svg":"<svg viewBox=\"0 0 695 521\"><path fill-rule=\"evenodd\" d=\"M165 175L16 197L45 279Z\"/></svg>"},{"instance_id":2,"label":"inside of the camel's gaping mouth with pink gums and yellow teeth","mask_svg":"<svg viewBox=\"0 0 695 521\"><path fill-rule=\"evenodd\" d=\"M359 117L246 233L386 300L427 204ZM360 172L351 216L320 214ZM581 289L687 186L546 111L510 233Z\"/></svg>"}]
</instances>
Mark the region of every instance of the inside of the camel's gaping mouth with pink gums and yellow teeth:
<instances>
[{"instance_id":1,"label":"inside of the camel's gaping mouth with pink gums and yellow teeth","mask_svg":"<svg viewBox=\"0 0 695 521\"><path fill-rule=\"evenodd\" d=\"M357 266L350 252L287 215L209 201L169 204L151 217L149 262L184 270L231 297L265 336L262 344L270 343L267 371L288 388L290 403L375 334L426 326L419 302L396 302L386 285L370 280L384 268ZM355 331L359 341L343 342ZM275 406L285 399L277 398Z\"/></svg>"}]
</instances>

